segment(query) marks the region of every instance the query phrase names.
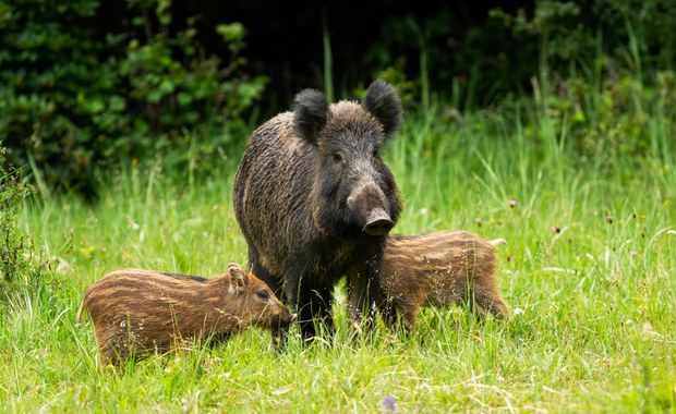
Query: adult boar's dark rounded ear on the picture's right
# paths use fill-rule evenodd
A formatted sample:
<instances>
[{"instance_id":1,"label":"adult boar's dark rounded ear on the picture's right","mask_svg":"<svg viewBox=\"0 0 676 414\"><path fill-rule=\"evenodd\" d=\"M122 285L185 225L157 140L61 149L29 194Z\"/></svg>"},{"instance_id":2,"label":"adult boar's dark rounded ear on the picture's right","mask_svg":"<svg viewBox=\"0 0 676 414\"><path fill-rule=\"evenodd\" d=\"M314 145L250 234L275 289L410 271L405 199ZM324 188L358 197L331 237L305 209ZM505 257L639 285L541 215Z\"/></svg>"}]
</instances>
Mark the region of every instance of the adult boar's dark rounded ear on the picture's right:
<instances>
[{"instance_id":1,"label":"adult boar's dark rounded ear on the picture's right","mask_svg":"<svg viewBox=\"0 0 676 414\"><path fill-rule=\"evenodd\" d=\"M395 88L385 81L377 80L366 89L364 108L382 124L385 136L391 136L403 120L403 108Z\"/></svg>"}]
</instances>

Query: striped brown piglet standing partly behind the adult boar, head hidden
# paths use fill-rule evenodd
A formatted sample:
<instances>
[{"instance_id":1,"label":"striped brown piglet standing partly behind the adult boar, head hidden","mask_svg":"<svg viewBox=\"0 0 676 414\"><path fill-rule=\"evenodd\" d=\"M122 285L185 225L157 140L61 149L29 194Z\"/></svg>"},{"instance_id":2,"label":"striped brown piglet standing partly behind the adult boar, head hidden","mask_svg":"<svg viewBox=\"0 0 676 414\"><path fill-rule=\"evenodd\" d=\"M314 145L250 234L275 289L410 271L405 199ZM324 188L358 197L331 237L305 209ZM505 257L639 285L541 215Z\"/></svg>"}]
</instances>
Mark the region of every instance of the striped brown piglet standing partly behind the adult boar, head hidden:
<instances>
[{"instance_id":1,"label":"striped brown piglet standing partly behind the adult boar, head hidden","mask_svg":"<svg viewBox=\"0 0 676 414\"><path fill-rule=\"evenodd\" d=\"M387 238L381 268L379 309L388 326L396 315L411 331L421 306L468 303L481 316L505 318L497 290L494 244L466 231Z\"/></svg>"}]
</instances>

